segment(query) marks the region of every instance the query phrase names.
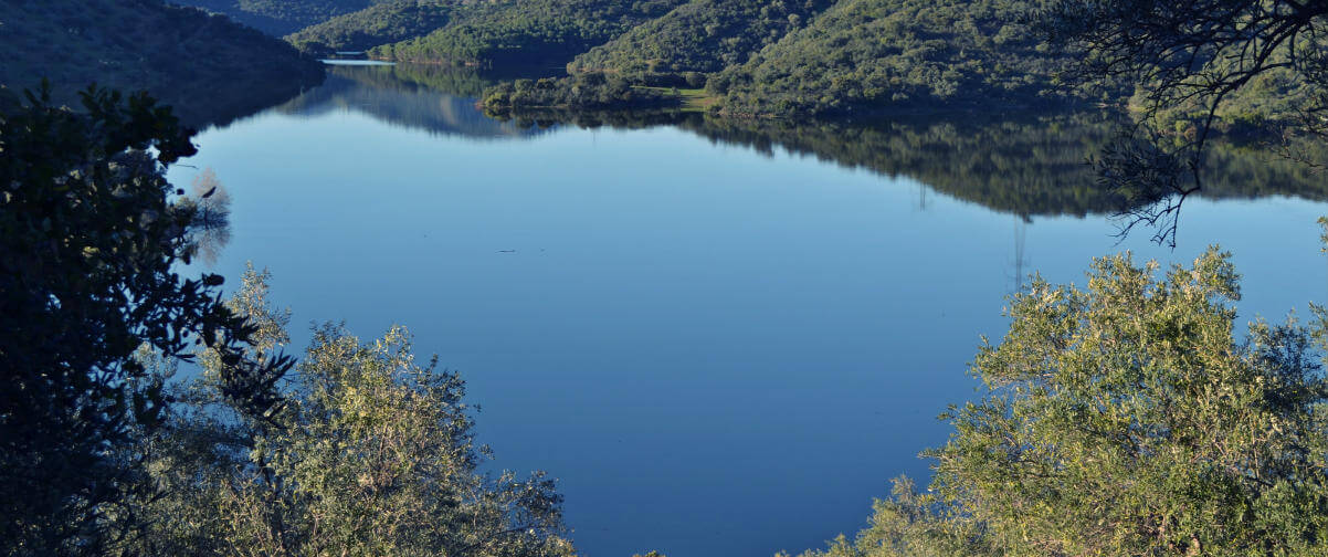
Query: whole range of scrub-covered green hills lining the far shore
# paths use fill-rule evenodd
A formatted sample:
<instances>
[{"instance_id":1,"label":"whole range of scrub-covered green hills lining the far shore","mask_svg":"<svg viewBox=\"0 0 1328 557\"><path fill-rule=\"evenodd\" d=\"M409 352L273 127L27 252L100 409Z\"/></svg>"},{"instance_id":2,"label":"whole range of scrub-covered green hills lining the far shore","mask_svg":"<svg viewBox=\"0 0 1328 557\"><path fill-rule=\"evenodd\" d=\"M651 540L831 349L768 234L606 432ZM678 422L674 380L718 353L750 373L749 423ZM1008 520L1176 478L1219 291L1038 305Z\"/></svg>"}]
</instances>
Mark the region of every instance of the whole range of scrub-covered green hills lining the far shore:
<instances>
[{"instance_id":1,"label":"whole range of scrub-covered green hills lining the far shore","mask_svg":"<svg viewBox=\"0 0 1328 557\"><path fill-rule=\"evenodd\" d=\"M328 56L526 69L485 96L502 113L687 105L741 117L1138 106L1122 76L1062 80L1085 52L1027 24L1049 0L194 0ZM275 24L274 21L279 23ZM664 90L649 90L664 88ZM677 89L677 90L673 90ZM1220 117L1296 110L1293 72L1231 94ZM704 98L700 101L699 98ZM1181 104L1171 120L1202 106ZM1183 128L1185 125L1179 125Z\"/></svg>"}]
</instances>

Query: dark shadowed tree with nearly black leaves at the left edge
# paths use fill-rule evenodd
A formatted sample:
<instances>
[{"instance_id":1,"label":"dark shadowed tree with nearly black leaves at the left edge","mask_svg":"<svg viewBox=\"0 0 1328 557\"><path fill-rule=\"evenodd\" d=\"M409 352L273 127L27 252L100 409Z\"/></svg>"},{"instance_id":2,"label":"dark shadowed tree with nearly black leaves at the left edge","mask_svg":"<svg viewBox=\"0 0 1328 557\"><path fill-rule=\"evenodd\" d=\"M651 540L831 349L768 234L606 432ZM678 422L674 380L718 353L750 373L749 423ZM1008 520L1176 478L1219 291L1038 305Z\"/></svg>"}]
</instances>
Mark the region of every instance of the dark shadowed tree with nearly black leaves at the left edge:
<instances>
[{"instance_id":1,"label":"dark shadowed tree with nearly black leaves at the left edge","mask_svg":"<svg viewBox=\"0 0 1328 557\"><path fill-rule=\"evenodd\" d=\"M4 92L0 92L3 94ZM224 396L279 407L282 356L243 358L255 328L182 279L198 214L175 203L167 165L191 130L146 94L89 88L84 113L50 90L0 102L0 552L100 554L150 496L137 441L163 420L163 380L135 351L219 355Z\"/></svg>"}]
</instances>

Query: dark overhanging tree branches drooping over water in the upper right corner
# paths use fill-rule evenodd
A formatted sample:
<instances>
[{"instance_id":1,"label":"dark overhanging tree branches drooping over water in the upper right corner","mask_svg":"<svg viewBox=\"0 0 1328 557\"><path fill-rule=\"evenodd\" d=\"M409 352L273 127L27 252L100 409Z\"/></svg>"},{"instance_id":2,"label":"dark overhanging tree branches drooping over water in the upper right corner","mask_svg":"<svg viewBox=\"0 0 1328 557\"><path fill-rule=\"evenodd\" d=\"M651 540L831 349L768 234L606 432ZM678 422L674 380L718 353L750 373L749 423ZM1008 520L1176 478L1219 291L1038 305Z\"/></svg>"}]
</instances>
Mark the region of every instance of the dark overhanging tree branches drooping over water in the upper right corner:
<instances>
[{"instance_id":1,"label":"dark overhanging tree branches drooping over water in the upper right corner","mask_svg":"<svg viewBox=\"0 0 1328 557\"><path fill-rule=\"evenodd\" d=\"M1228 116L1280 120L1284 153L1323 164L1297 145L1328 138L1328 4L1052 0L1031 19L1044 39L1082 55L1070 81L1139 86L1141 126L1098 161L1104 186L1133 197L1122 234L1147 223L1159 230L1154 239L1175 245L1181 206L1203 187L1204 146L1231 105L1280 102Z\"/></svg>"}]
</instances>

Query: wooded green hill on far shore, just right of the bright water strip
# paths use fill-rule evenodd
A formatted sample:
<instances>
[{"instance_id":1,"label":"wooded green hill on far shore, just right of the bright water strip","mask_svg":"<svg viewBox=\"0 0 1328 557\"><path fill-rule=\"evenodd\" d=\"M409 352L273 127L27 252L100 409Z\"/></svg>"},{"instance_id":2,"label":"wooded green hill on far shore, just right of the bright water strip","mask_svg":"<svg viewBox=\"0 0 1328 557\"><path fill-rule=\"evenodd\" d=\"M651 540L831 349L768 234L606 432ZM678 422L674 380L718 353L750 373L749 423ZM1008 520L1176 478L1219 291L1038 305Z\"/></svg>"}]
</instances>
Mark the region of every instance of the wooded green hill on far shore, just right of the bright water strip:
<instances>
[{"instance_id":1,"label":"wooded green hill on far shore, just right of the bright water strip","mask_svg":"<svg viewBox=\"0 0 1328 557\"><path fill-rule=\"evenodd\" d=\"M683 0L529 0L477 5L424 37L374 57L481 65L564 65L591 47L668 13Z\"/></svg>"}]
</instances>

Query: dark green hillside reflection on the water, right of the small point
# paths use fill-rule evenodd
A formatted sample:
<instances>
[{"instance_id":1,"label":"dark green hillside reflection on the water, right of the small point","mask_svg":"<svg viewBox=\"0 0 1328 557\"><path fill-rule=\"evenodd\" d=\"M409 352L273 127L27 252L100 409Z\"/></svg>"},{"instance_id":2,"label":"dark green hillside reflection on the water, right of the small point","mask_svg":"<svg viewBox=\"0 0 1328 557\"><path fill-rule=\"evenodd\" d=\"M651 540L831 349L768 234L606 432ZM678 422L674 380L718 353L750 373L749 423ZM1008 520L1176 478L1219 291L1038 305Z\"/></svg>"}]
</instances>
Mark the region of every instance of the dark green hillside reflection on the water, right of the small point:
<instances>
[{"instance_id":1,"label":"dark green hillside reflection on the water, right of the small point","mask_svg":"<svg viewBox=\"0 0 1328 557\"><path fill-rule=\"evenodd\" d=\"M1102 113L791 122L700 113L540 112L518 114L514 121L522 126L570 124L612 129L672 125L714 144L746 146L768 156L788 152L882 175L908 177L956 199L1024 218L1116 214L1130 209L1130 201L1104 187L1088 164L1120 136L1120 121ZM1328 199L1328 182L1321 175L1260 144L1214 141L1203 173L1204 187L1198 195L1204 198Z\"/></svg>"}]
</instances>

